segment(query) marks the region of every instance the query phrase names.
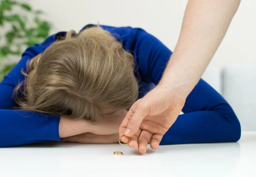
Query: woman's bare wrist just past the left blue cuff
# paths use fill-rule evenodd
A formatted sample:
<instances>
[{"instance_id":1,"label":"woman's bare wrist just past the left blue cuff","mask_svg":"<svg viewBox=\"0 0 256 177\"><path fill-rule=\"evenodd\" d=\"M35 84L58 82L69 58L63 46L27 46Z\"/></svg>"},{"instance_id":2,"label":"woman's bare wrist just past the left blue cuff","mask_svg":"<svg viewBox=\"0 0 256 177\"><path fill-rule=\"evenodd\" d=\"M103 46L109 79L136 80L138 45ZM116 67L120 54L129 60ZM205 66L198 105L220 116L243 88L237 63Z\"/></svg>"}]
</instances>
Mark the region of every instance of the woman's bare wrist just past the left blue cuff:
<instances>
[{"instance_id":1,"label":"woman's bare wrist just past the left blue cuff","mask_svg":"<svg viewBox=\"0 0 256 177\"><path fill-rule=\"evenodd\" d=\"M91 123L86 120L74 120L61 116L59 124L60 138L66 138L81 133L90 132Z\"/></svg>"}]
</instances>

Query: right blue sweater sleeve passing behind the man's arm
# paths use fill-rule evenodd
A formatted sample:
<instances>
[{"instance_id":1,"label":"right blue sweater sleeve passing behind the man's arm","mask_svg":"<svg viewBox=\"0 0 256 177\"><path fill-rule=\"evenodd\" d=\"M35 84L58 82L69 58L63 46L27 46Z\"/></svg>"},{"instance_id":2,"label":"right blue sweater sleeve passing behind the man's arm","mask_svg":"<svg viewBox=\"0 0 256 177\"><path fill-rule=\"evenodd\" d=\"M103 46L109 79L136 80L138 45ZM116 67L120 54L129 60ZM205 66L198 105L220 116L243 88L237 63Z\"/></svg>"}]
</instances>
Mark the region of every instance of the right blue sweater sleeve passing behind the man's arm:
<instances>
[{"instance_id":1,"label":"right blue sweater sleeve passing behind the man's arm","mask_svg":"<svg viewBox=\"0 0 256 177\"><path fill-rule=\"evenodd\" d=\"M130 49L140 75L143 81L157 84L172 52L144 30L133 31ZM230 105L202 79L189 94L182 111L184 114L178 116L160 144L234 142L241 136L239 120Z\"/></svg>"}]
</instances>

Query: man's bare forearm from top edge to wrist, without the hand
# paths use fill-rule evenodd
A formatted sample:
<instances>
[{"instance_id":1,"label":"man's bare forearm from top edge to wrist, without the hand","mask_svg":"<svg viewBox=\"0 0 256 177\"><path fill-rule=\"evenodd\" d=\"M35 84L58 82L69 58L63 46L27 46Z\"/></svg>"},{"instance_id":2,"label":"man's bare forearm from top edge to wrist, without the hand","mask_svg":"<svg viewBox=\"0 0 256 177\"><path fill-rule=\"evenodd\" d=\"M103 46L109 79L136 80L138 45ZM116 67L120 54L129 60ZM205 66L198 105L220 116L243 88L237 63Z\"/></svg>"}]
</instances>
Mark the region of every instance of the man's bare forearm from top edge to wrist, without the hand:
<instances>
[{"instance_id":1,"label":"man's bare forearm from top edge to wrist, without the hand","mask_svg":"<svg viewBox=\"0 0 256 177\"><path fill-rule=\"evenodd\" d=\"M224 38L240 0L189 0L160 84L186 99Z\"/></svg>"}]
</instances>

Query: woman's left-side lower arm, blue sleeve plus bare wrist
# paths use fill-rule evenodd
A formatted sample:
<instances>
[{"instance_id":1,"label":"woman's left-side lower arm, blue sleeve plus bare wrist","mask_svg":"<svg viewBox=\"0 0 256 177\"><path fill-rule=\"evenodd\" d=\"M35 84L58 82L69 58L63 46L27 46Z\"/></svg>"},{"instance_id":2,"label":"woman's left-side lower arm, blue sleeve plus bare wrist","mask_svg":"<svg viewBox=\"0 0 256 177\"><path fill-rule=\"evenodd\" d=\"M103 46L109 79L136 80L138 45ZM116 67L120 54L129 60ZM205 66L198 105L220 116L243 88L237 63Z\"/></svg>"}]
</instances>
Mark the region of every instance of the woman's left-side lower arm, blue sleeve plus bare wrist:
<instances>
[{"instance_id":1,"label":"woman's left-side lower arm, blue sleeve plus bare wrist","mask_svg":"<svg viewBox=\"0 0 256 177\"><path fill-rule=\"evenodd\" d=\"M23 110L0 110L0 147L20 146L86 133L90 123Z\"/></svg>"}]
</instances>

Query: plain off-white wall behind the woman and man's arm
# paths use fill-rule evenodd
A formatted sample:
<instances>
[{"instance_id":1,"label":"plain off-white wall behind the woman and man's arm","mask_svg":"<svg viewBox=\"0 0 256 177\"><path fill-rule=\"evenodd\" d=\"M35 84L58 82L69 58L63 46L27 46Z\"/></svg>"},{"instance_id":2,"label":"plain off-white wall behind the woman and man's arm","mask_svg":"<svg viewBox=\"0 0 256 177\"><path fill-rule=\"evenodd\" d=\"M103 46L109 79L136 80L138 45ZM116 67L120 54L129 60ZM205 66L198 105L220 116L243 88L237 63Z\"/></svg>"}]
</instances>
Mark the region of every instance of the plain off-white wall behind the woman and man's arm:
<instances>
[{"instance_id":1,"label":"plain off-white wall behind the woman and man's arm","mask_svg":"<svg viewBox=\"0 0 256 177\"><path fill-rule=\"evenodd\" d=\"M171 50L180 33L187 0L20 0L47 13L52 33L88 23L144 28ZM256 1L242 0L210 66L256 64Z\"/></svg>"}]
</instances>

